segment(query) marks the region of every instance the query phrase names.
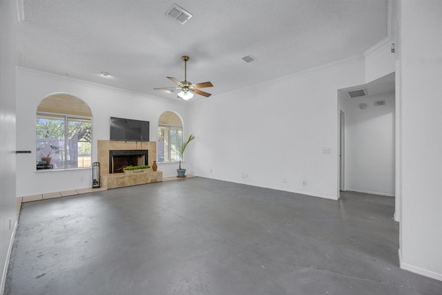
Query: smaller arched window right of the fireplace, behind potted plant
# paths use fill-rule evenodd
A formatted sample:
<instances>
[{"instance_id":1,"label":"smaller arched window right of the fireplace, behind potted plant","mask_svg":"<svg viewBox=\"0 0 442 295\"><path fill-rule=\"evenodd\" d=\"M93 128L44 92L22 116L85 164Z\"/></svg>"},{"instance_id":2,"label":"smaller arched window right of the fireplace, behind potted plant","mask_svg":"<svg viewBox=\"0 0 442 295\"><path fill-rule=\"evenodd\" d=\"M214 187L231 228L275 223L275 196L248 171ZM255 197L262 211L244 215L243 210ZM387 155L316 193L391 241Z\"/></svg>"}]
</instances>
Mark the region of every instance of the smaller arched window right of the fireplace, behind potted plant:
<instances>
[{"instance_id":1,"label":"smaller arched window right of the fireplace, behind potted plant","mask_svg":"<svg viewBox=\"0 0 442 295\"><path fill-rule=\"evenodd\" d=\"M182 121L171 111L165 111L158 120L157 156L158 162L175 162L180 160L177 153L182 145Z\"/></svg>"}]
</instances>

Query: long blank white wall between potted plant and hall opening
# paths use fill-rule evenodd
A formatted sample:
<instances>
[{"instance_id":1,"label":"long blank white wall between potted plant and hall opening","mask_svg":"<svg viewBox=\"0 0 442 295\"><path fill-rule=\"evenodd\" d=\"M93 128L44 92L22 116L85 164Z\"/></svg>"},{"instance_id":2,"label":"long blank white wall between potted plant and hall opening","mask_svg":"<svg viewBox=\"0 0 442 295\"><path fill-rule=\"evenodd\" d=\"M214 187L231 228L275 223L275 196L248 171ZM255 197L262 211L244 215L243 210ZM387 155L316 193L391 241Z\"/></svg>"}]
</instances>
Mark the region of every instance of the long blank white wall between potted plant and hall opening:
<instances>
[{"instance_id":1,"label":"long blank white wall between potted plant and hall opening","mask_svg":"<svg viewBox=\"0 0 442 295\"><path fill-rule=\"evenodd\" d=\"M189 122L198 139L193 170L337 199L336 91L363 84L364 73L363 59L352 59L192 104Z\"/></svg>"}]
</instances>

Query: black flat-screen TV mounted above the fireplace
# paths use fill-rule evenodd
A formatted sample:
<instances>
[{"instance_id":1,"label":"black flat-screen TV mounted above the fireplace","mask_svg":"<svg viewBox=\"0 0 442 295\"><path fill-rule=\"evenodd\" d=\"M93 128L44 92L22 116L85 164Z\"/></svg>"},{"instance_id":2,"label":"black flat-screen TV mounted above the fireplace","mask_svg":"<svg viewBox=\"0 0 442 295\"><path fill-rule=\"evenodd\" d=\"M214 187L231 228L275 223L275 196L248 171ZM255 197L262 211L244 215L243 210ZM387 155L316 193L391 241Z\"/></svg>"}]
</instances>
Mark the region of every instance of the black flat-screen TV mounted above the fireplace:
<instances>
[{"instance_id":1,"label":"black flat-screen TV mounted above the fireplace","mask_svg":"<svg viewBox=\"0 0 442 295\"><path fill-rule=\"evenodd\" d=\"M149 122L111 117L111 140L149 141Z\"/></svg>"}]
</instances>

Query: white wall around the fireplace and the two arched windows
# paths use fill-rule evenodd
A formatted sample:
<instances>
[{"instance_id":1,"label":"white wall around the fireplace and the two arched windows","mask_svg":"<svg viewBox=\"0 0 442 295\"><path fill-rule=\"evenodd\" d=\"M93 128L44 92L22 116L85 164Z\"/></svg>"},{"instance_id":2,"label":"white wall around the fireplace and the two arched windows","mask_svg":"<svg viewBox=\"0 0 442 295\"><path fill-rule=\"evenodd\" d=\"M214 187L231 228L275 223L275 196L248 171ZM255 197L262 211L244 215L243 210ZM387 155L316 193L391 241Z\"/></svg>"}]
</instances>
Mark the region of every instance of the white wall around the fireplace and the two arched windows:
<instances>
[{"instance_id":1,"label":"white wall around the fireplace and the two arched windows","mask_svg":"<svg viewBox=\"0 0 442 295\"><path fill-rule=\"evenodd\" d=\"M30 150L17 158L17 196L68 191L92 187L91 169L36 171L35 118L37 106L52 93L70 93L83 99L93 113L93 162L97 161L97 140L109 139L109 117L126 117L151 122L151 141L157 141L158 119L164 111L175 111L184 120L187 106L180 102L128 93L100 84L50 75L26 68L17 69L17 149ZM189 161L188 161L189 162ZM177 164L159 164L164 176L176 175ZM102 171L102 173L105 173ZM191 171L189 171L191 173ZM80 181L80 179L83 181Z\"/></svg>"}]
</instances>

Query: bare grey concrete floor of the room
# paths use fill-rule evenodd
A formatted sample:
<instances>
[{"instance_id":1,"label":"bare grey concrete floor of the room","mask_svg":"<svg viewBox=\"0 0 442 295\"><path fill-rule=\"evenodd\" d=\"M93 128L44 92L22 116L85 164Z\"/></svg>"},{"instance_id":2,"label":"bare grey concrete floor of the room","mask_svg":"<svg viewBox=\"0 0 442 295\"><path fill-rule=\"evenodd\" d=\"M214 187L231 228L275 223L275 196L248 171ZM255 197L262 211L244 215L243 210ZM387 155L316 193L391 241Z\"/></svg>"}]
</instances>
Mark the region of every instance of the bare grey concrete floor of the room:
<instances>
[{"instance_id":1,"label":"bare grey concrete floor of the room","mask_svg":"<svg viewBox=\"0 0 442 295\"><path fill-rule=\"evenodd\" d=\"M442 294L394 198L189 178L22 204L5 294Z\"/></svg>"}]
</instances>

